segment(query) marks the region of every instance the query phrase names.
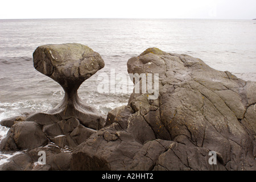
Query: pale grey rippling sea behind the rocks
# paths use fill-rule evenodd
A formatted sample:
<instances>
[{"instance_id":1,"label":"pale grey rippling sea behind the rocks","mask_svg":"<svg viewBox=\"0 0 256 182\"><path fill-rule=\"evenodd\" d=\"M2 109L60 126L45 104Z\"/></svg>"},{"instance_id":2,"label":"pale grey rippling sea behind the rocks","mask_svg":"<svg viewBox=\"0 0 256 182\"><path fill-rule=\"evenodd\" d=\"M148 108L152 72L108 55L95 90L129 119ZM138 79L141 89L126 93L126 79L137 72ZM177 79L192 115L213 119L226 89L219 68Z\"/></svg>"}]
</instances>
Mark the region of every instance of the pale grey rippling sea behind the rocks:
<instances>
[{"instance_id":1,"label":"pale grey rippling sea behind the rocks","mask_svg":"<svg viewBox=\"0 0 256 182\"><path fill-rule=\"evenodd\" d=\"M35 70L32 53L38 46L81 43L100 53L105 67L84 81L79 97L106 115L126 105L130 92L98 92L99 75L127 75L127 60L150 47L198 57L214 69L256 81L255 35L255 20L0 19L0 121L47 112L64 97L57 82ZM0 142L8 130L0 126ZM20 152L0 152L0 165L15 154Z\"/></svg>"}]
</instances>

